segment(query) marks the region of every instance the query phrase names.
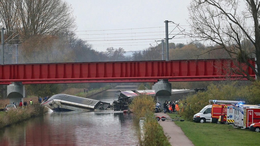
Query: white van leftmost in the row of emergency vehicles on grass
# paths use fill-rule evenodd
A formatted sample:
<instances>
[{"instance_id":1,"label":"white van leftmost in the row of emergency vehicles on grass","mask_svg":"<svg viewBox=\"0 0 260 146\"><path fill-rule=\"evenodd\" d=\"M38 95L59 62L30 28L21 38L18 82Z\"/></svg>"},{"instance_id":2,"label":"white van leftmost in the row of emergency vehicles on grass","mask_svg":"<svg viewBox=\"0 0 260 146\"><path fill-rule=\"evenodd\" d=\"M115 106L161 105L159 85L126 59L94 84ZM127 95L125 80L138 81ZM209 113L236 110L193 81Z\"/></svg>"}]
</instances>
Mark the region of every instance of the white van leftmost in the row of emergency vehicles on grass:
<instances>
[{"instance_id":1,"label":"white van leftmost in the row of emergency vehicles on grass","mask_svg":"<svg viewBox=\"0 0 260 146\"><path fill-rule=\"evenodd\" d=\"M211 108L212 105L205 106L199 113L193 116L193 122L200 122L200 123L211 122L210 121Z\"/></svg>"}]
</instances>

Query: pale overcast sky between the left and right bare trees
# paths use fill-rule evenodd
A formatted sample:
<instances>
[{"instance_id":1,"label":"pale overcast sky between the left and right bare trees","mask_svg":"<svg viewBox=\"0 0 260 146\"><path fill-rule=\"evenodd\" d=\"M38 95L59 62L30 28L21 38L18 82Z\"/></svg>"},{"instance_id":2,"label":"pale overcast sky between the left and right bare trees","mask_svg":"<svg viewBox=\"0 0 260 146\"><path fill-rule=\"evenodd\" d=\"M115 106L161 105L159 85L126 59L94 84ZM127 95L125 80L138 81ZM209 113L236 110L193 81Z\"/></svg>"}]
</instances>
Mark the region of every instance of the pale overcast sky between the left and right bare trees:
<instances>
[{"instance_id":1,"label":"pale overcast sky between the left and right bare trees","mask_svg":"<svg viewBox=\"0 0 260 146\"><path fill-rule=\"evenodd\" d=\"M67 0L74 8L79 38L92 44L97 51L108 47L123 48L125 51L138 51L156 45L165 38L165 20L169 23L169 35L180 29L189 32L187 6L191 0ZM175 29L174 29L175 28ZM177 35L169 42L186 43ZM160 43L160 42L158 42Z\"/></svg>"}]
</instances>

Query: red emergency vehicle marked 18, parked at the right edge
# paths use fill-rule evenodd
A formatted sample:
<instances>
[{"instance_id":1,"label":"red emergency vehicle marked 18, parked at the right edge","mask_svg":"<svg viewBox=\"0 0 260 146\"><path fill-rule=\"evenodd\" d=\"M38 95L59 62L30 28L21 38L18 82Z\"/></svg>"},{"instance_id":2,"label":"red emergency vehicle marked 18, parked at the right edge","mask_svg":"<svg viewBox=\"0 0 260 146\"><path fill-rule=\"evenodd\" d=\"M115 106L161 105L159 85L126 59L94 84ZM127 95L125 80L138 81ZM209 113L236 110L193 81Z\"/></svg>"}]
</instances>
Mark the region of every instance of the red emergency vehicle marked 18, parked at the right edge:
<instances>
[{"instance_id":1,"label":"red emergency vehicle marked 18, parked at the right edge","mask_svg":"<svg viewBox=\"0 0 260 146\"><path fill-rule=\"evenodd\" d=\"M251 124L260 122L260 106L257 108L244 107L243 128L249 128Z\"/></svg>"}]
</instances>

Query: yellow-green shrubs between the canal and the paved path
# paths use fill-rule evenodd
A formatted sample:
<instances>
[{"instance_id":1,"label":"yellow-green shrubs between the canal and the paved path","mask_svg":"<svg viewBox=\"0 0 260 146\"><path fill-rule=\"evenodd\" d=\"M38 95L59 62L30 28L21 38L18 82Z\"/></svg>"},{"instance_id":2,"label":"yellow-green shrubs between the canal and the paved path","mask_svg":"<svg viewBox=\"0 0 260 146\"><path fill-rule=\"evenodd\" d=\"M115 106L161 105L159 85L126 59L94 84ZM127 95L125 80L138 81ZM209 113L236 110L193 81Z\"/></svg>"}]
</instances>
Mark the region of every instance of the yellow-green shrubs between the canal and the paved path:
<instances>
[{"instance_id":1,"label":"yellow-green shrubs between the canal and the paved path","mask_svg":"<svg viewBox=\"0 0 260 146\"><path fill-rule=\"evenodd\" d=\"M134 113L136 120L139 121L142 117L146 118L144 126L145 135L143 140L141 140L141 136L139 137L139 144L141 146L158 144L170 146L171 144L168 142L169 137L164 135L162 127L154 118L154 105L154 97L146 94L135 97L129 104L129 108Z\"/></svg>"}]
</instances>

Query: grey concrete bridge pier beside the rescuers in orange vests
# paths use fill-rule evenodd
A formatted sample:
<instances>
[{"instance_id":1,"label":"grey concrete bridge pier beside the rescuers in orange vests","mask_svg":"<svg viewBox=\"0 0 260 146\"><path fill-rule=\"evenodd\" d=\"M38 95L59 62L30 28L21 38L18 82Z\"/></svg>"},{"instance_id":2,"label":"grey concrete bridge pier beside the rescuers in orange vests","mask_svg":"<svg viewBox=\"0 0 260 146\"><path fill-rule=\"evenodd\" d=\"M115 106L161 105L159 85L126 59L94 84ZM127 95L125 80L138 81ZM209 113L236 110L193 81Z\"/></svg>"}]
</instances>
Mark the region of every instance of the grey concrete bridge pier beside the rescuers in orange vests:
<instances>
[{"instance_id":1,"label":"grey concrete bridge pier beside the rescuers in orange vests","mask_svg":"<svg viewBox=\"0 0 260 146\"><path fill-rule=\"evenodd\" d=\"M169 100L172 96L172 84L168 82L168 79L161 79L154 84L155 97L161 104L165 100Z\"/></svg>"}]
</instances>

